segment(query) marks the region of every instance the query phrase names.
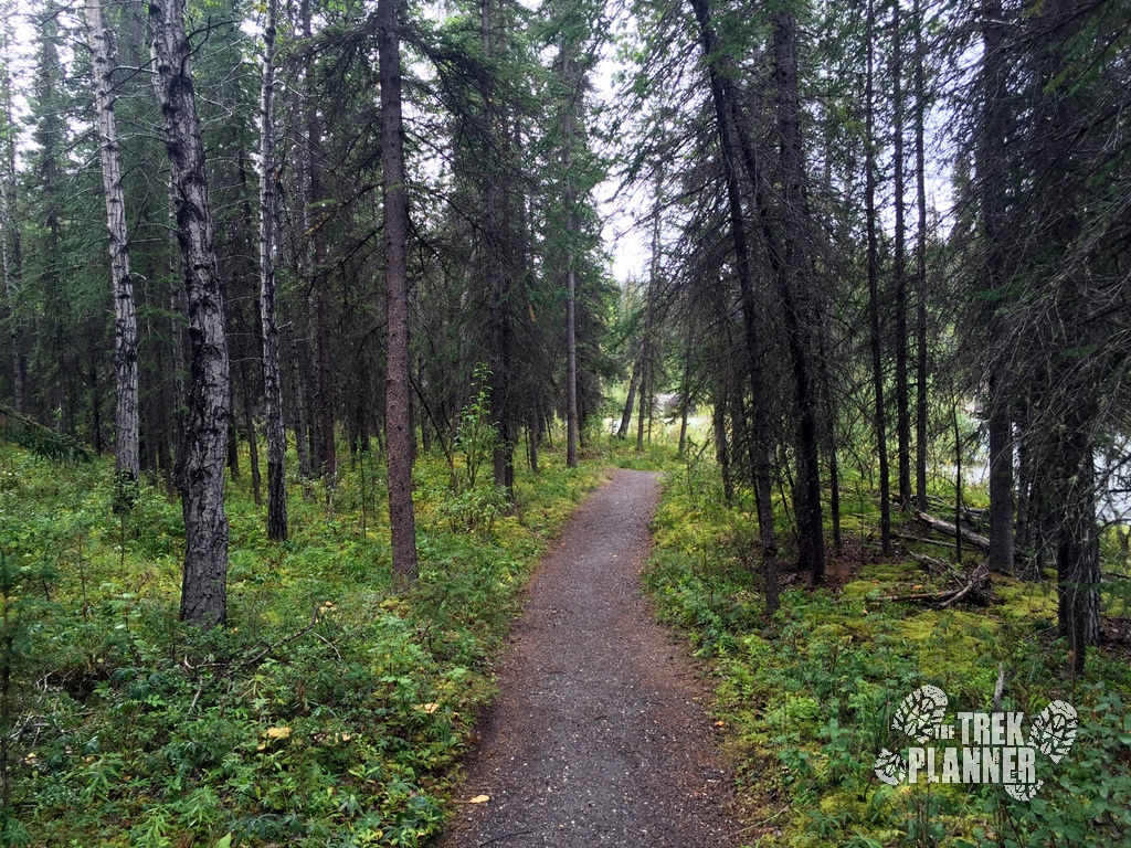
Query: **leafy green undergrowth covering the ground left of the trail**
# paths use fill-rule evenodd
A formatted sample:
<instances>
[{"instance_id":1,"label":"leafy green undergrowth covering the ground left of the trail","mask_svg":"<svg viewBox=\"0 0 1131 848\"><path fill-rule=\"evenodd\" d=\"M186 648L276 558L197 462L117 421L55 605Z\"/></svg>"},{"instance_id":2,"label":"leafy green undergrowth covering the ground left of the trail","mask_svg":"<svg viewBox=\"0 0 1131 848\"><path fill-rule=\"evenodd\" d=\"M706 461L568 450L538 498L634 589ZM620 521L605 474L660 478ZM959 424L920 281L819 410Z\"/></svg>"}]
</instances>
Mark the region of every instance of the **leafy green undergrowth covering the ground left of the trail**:
<instances>
[{"instance_id":1,"label":"leafy green undergrowth covering the ground left of the trail","mask_svg":"<svg viewBox=\"0 0 1131 848\"><path fill-rule=\"evenodd\" d=\"M517 505L468 478L474 445L416 467L421 577L390 588L383 462L342 459L290 492L265 538L230 486L227 626L178 622L180 503L121 507L107 461L0 455L0 845L414 846L492 694L489 658L547 542L603 458L519 471ZM484 479L484 477L486 479ZM115 503L119 504L115 511ZM228 842L224 840L228 839Z\"/></svg>"}]
</instances>

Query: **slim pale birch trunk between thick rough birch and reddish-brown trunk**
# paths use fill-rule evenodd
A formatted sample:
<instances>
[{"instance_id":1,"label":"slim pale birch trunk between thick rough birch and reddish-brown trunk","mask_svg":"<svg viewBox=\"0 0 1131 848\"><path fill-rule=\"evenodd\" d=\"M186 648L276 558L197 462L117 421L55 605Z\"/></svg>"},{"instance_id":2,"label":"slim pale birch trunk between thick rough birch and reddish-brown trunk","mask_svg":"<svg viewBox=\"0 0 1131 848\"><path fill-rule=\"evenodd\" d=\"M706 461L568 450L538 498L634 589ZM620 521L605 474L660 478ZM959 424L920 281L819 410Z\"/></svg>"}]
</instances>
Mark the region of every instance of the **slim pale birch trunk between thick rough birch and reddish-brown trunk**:
<instances>
[{"instance_id":1,"label":"slim pale birch trunk between thick rough birch and reddish-brown trunk","mask_svg":"<svg viewBox=\"0 0 1131 848\"><path fill-rule=\"evenodd\" d=\"M279 329L275 310L275 19L277 0L267 0L264 78L259 110L259 315L264 334L264 399L267 429L267 538L285 542L286 430L279 378ZM301 415L300 418L304 418ZM249 433L250 435L250 433ZM301 438L299 439L301 442Z\"/></svg>"}]
</instances>

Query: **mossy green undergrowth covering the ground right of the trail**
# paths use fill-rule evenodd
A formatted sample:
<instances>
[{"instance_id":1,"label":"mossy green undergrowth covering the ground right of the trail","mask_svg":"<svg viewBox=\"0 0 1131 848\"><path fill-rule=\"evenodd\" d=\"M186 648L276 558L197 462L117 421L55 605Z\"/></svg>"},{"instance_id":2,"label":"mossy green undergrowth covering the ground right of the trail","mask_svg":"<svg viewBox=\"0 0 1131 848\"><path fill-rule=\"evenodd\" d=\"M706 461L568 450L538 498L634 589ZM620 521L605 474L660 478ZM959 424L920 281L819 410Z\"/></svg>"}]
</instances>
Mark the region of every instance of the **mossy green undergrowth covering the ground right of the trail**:
<instances>
[{"instance_id":1,"label":"mossy green undergrowth covering the ground right of the trail","mask_svg":"<svg viewBox=\"0 0 1131 848\"><path fill-rule=\"evenodd\" d=\"M716 718L750 811L749 845L1131 845L1128 657L1093 651L1085 676L1068 680L1054 586L995 577L986 606L892 600L934 591L955 572L880 557L865 525L846 534L830 588L784 574L782 609L767 621L753 504L740 496L726 505L717 477L706 461L667 475L646 582L662 617L717 677ZM846 512L867 516L873 503L870 492L849 496ZM1037 797L1018 802L996 785L878 780L882 749L907 756L909 739L891 729L906 695L941 687L953 722L959 710L991 709L1000 666L1002 709L1033 717L1063 699L1080 713L1069 755L1055 765L1039 758Z\"/></svg>"}]
</instances>

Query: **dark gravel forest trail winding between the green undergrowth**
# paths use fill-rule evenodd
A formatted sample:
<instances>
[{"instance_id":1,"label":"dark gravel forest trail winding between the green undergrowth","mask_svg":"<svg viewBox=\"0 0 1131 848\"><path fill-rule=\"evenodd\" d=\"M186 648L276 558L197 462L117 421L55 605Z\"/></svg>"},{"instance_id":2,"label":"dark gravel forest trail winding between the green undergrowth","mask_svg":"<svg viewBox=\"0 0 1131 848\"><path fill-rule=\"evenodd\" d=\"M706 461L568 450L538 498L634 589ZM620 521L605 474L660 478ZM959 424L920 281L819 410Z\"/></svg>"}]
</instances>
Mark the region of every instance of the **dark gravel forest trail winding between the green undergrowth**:
<instances>
[{"instance_id":1,"label":"dark gravel forest trail winding between the green undergrowth","mask_svg":"<svg viewBox=\"0 0 1131 848\"><path fill-rule=\"evenodd\" d=\"M527 590L442 848L725 848L731 780L684 646L640 594L656 476L618 470Z\"/></svg>"}]
</instances>

